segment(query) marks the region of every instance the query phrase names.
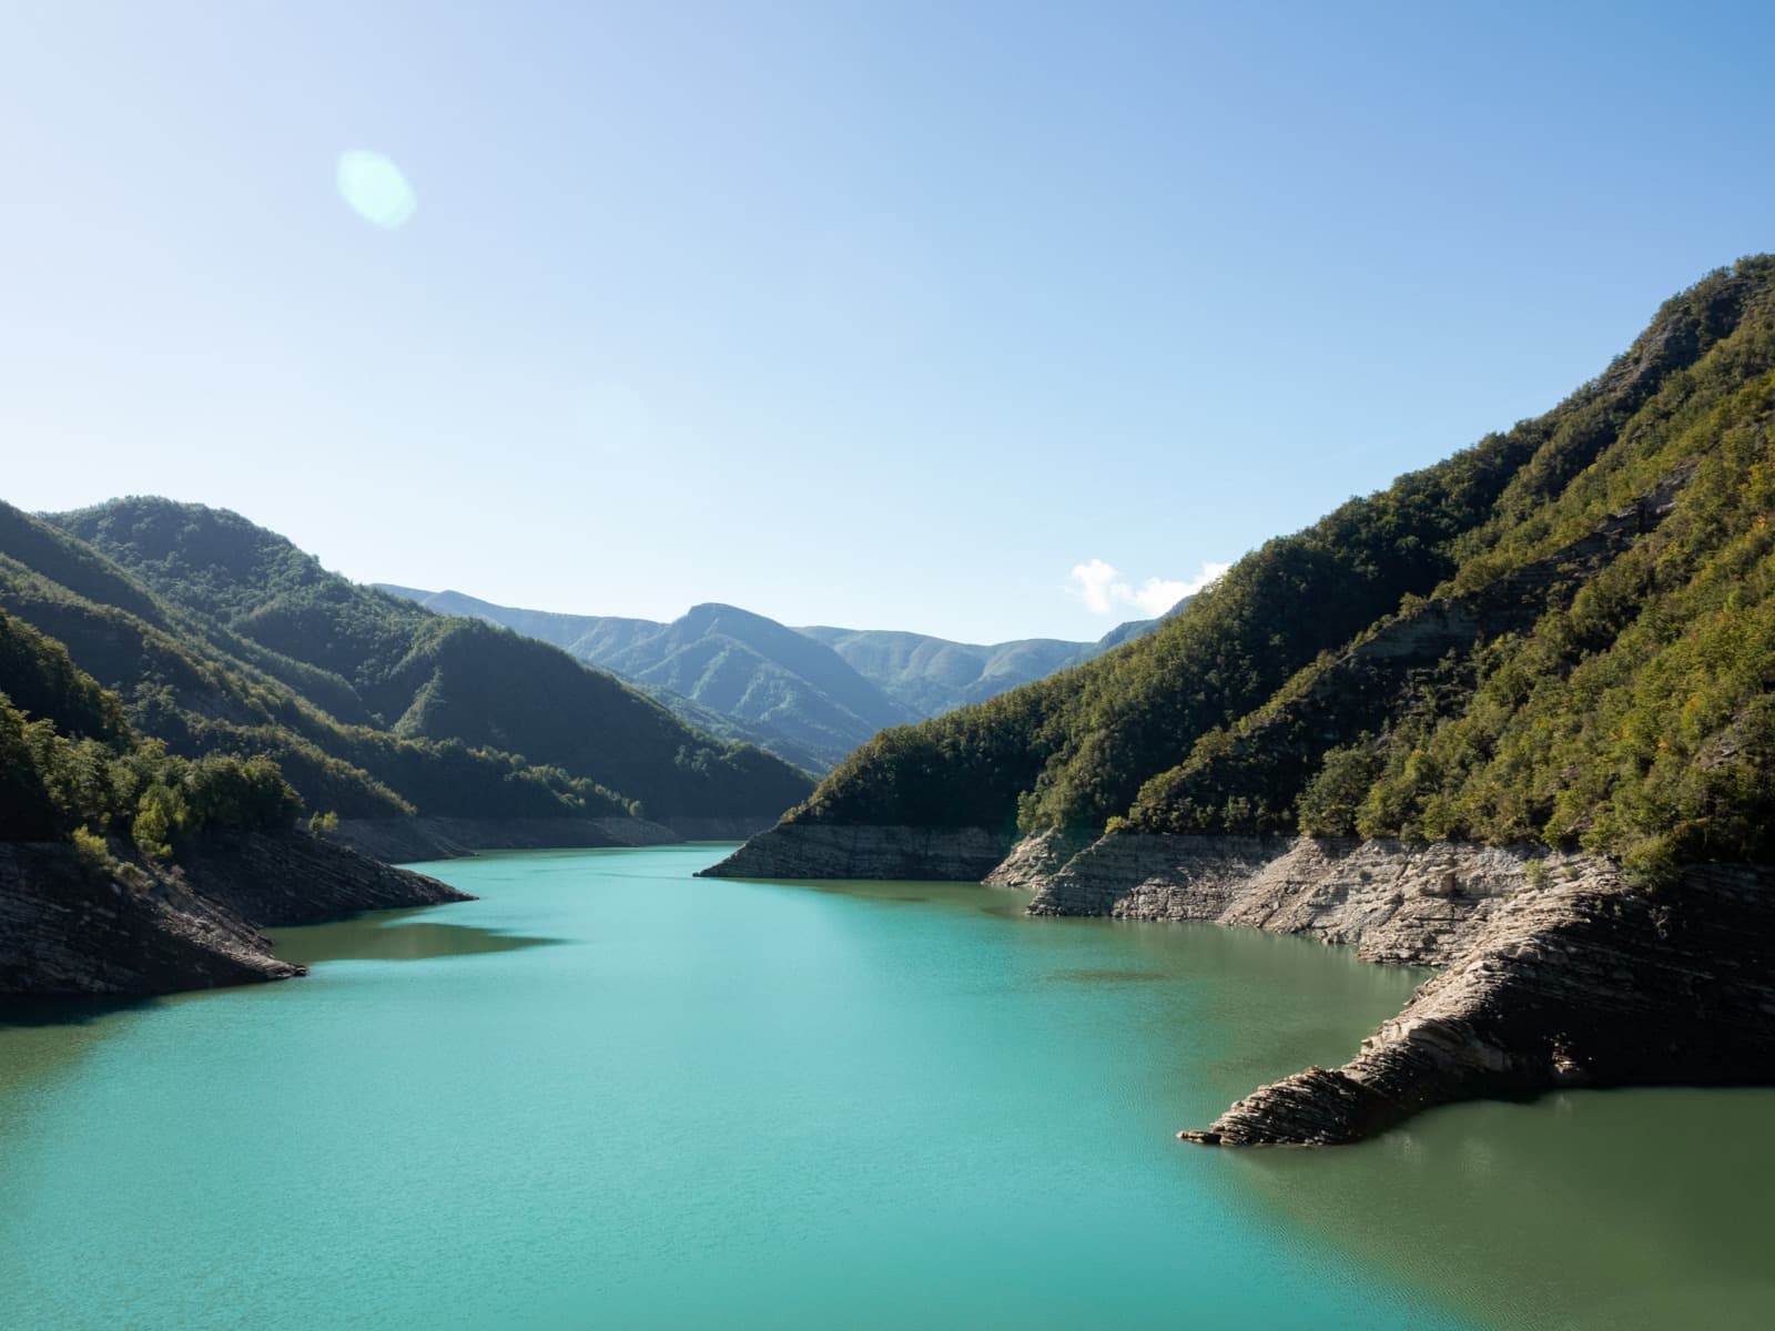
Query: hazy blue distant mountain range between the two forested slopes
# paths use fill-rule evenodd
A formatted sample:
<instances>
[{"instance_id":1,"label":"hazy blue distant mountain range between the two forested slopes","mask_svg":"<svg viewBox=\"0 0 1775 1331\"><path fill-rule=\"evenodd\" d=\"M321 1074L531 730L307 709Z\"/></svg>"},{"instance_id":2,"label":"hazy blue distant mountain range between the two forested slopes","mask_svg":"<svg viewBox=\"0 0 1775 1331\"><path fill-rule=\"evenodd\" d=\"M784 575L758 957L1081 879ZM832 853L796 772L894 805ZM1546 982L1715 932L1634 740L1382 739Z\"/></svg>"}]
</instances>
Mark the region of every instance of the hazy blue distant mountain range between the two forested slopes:
<instances>
[{"instance_id":1,"label":"hazy blue distant mountain range between the two forested slopes","mask_svg":"<svg viewBox=\"0 0 1775 1331\"><path fill-rule=\"evenodd\" d=\"M550 642L643 689L698 729L756 744L822 774L888 726L985 701L1086 662L1159 623L1136 619L1097 642L1031 637L980 646L893 630L790 628L719 603L694 605L659 623L525 610L460 591L376 586L438 614L483 619Z\"/></svg>"}]
</instances>

